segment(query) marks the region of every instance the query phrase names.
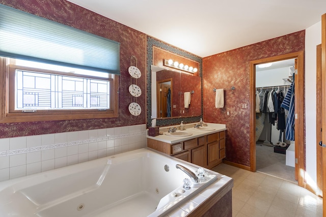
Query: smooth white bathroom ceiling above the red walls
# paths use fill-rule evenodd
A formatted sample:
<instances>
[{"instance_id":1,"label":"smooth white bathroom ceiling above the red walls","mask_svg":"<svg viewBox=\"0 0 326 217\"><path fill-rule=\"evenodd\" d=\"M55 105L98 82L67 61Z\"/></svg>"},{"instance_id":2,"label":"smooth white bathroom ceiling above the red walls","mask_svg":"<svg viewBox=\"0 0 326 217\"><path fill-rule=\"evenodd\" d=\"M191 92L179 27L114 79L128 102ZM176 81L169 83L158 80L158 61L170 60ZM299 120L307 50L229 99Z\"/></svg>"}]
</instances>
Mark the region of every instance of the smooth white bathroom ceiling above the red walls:
<instances>
[{"instance_id":1,"label":"smooth white bathroom ceiling above the red walls","mask_svg":"<svg viewBox=\"0 0 326 217\"><path fill-rule=\"evenodd\" d=\"M68 0L200 57L304 30L325 0Z\"/></svg>"}]
</instances>

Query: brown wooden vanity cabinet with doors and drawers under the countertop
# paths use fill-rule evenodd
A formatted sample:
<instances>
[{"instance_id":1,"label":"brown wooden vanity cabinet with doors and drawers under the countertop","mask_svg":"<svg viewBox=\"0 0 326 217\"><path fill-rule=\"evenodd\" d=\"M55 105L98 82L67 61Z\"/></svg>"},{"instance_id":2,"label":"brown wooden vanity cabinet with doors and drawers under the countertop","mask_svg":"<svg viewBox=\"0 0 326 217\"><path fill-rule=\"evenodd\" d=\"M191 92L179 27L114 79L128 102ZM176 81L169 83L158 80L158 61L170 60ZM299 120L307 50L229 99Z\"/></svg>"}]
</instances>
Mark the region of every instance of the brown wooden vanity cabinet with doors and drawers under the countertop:
<instances>
[{"instance_id":1,"label":"brown wooden vanity cabinet with doors and drawers under the countertop","mask_svg":"<svg viewBox=\"0 0 326 217\"><path fill-rule=\"evenodd\" d=\"M147 146L201 167L213 168L225 158L225 131L176 144L147 138Z\"/></svg>"}]
</instances>

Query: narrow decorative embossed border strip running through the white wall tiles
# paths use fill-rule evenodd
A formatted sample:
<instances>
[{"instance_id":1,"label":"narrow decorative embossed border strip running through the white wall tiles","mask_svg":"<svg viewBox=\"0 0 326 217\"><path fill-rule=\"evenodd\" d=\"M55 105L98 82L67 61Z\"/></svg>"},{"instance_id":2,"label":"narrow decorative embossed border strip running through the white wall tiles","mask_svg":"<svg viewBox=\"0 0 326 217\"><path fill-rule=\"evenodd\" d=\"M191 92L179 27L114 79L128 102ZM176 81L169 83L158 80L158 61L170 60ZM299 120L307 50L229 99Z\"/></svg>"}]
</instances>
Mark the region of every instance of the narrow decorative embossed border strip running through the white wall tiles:
<instances>
[{"instance_id":1,"label":"narrow decorative embossed border strip running through the white wall tiles","mask_svg":"<svg viewBox=\"0 0 326 217\"><path fill-rule=\"evenodd\" d=\"M92 142L101 142L101 141L114 140L114 139L119 139L119 138L133 137L133 136L138 136L138 135L146 135L146 131L98 137L98 138L85 139L85 140L77 140L77 141L73 141L73 142L64 142L64 143L58 143L58 144L35 146L35 147L29 147L29 148L3 150L3 151L0 151L0 157L13 156L16 154L30 153L30 152L34 152L34 151L55 149L55 148L74 146L74 145L80 145L80 144L87 144L87 143L92 143Z\"/></svg>"}]
</instances>

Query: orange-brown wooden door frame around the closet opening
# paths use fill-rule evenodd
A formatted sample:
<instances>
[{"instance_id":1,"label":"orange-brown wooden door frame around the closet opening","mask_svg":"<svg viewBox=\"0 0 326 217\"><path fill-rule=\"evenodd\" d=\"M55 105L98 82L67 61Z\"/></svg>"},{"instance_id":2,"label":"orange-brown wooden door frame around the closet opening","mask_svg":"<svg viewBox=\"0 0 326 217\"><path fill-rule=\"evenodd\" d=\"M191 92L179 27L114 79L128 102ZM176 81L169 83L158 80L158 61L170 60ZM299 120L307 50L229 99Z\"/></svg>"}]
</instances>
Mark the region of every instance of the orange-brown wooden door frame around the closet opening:
<instances>
[{"instance_id":1,"label":"orange-brown wooden door frame around the closet opening","mask_svg":"<svg viewBox=\"0 0 326 217\"><path fill-rule=\"evenodd\" d=\"M256 65L280 61L285 59L297 59L297 74L294 76L295 91L295 174L298 185L305 187L305 143L304 143L304 51L283 54L250 61L250 171L256 171Z\"/></svg>"}]
</instances>

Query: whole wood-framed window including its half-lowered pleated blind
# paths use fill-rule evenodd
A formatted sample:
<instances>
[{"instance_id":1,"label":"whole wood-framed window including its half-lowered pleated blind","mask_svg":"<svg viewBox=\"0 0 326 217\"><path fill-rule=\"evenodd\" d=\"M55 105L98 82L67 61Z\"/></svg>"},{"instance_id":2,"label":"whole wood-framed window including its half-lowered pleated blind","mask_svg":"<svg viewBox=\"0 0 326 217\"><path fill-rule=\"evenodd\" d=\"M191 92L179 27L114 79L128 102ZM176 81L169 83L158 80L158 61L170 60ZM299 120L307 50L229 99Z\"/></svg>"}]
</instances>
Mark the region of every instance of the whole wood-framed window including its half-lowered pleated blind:
<instances>
[{"instance_id":1,"label":"whole wood-framed window including its half-lowered pleated blind","mask_svg":"<svg viewBox=\"0 0 326 217\"><path fill-rule=\"evenodd\" d=\"M0 4L0 56L0 122L118 116L119 42Z\"/></svg>"}]
</instances>

